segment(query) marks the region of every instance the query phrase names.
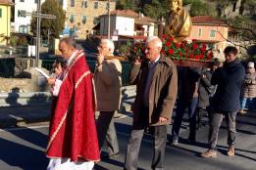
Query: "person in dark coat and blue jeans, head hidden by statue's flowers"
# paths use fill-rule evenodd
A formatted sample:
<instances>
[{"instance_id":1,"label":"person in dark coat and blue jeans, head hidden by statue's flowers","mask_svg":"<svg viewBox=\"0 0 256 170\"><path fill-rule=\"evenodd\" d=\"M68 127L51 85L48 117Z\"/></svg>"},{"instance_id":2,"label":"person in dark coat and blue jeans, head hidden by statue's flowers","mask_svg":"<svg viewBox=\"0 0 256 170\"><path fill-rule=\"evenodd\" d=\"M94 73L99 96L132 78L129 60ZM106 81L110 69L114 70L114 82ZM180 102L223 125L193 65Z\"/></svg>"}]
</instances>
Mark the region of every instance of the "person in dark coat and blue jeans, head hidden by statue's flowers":
<instances>
[{"instance_id":1,"label":"person in dark coat and blue jeans, head hidden by statue's flowers","mask_svg":"<svg viewBox=\"0 0 256 170\"><path fill-rule=\"evenodd\" d=\"M196 106L198 104L198 84L201 75L200 67L179 67L179 99L177 101L176 117L172 129L172 145L179 144L179 129L185 108L188 107L189 142L196 141Z\"/></svg>"}]
</instances>

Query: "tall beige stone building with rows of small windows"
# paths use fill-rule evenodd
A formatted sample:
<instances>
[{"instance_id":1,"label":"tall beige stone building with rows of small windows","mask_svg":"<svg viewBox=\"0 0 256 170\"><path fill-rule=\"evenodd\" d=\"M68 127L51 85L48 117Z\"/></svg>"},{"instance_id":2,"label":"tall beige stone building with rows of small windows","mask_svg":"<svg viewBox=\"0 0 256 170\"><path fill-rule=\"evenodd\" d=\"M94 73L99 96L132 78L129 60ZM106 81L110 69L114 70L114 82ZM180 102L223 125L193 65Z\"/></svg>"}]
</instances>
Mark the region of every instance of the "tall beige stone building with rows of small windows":
<instances>
[{"instance_id":1,"label":"tall beige stone building with rows of small windows","mask_svg":"<svg viewBox=\"0 0 256 170\"><path fill-rule=\"evenodd\" d=\"M100 21L101 15L116 9L116 2L95 0L68 0L66 10L66 29L78 39L85 39L93 34L93 27Z\"/></svg>"}]
</instances>

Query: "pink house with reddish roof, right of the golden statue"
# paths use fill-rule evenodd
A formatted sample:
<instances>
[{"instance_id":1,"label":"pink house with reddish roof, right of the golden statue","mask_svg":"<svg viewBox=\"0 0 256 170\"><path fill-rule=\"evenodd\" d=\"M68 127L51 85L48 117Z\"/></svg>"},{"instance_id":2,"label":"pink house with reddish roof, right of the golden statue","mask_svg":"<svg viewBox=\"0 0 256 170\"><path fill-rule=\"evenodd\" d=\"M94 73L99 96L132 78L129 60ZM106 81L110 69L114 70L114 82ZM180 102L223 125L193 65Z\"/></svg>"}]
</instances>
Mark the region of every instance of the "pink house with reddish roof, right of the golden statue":
<instances>
[{"instance_id":1,"label":"pink house with reddish roof, right of the golden statue","mask_svg":"<svg viewBox=\"0 0 256 170\"><path fill-rule=\"evenodd\" d=\"M229 36L229 25L224 21L209 16L197 16L192 20L192 32L186 40L196 39L211 44L216 54L222 54Z\"/></svg>"}]
</instances>

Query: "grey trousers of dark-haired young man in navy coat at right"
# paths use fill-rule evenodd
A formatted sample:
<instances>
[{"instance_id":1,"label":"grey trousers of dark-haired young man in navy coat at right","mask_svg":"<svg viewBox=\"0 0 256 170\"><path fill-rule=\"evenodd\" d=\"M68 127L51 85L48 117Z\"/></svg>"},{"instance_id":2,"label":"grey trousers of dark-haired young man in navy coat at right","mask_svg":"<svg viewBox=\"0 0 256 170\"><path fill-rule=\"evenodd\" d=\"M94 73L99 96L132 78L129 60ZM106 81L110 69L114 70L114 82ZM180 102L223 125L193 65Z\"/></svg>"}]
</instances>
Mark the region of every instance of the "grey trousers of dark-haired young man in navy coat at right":
<instances>
[{"instance_id":1,"label":"grey trousers of dark-haired young man in navy coat at right","mask_svg":"<svg viewBox=\"0 0 256 170\"><path fill-rule=\"evenodd\" d=\"M212 112L210 114L210 132L209 132L209 147L216 149L219 130L225 115L225 121L228 126L228 145L234 147L234 140L236 135L235 117L236 112Z\"/></svg>"}]
</instances>

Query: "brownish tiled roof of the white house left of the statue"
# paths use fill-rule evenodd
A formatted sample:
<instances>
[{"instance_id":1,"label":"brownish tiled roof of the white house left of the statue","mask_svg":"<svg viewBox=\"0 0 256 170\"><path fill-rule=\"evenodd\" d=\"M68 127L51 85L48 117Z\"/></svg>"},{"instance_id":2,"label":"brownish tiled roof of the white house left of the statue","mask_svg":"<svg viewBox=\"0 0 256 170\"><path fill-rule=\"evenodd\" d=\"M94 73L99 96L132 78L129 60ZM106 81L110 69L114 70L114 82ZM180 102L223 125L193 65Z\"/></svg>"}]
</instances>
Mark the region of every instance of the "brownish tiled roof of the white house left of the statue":
<instances>
[{"instance_id":1,"label":"brownish tiled roof of the white house left of the statue","mask_svg":"<svg viewBox=\"0 0 256 170\"><path fill-rule=\"evenodd\" d=\"M149 22L157 22L154 19L145 17L143 14L138 14L131 10L114 10L110 13L110 15L135 19L136 24L149 24Z\"/></svg>"}]
</instances>

